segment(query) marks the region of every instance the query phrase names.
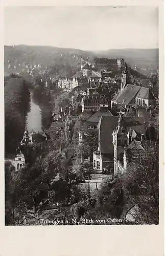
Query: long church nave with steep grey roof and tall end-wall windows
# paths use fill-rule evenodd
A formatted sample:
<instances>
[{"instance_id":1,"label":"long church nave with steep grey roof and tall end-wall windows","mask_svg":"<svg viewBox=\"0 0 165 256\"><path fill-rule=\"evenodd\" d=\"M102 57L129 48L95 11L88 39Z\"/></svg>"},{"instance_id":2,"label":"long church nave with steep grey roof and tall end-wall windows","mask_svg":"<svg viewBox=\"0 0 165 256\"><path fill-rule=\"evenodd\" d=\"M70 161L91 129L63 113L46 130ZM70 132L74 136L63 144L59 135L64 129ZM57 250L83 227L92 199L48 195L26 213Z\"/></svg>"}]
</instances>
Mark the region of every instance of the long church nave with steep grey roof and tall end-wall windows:
<instances>
[{"instance_id":1,"label":"long church nave with steep grey roof and tall end-wall windows","mask_svg":"<svg viewBox=\"0 0 165 256\"><path fill-rule=\"evenodd\" d=\"M126 87L112 100L112 104L122 104L125 108L129 104L149 106L154 104L154 96L151 89L127 84Z\"/></svg>"}]
</instances>

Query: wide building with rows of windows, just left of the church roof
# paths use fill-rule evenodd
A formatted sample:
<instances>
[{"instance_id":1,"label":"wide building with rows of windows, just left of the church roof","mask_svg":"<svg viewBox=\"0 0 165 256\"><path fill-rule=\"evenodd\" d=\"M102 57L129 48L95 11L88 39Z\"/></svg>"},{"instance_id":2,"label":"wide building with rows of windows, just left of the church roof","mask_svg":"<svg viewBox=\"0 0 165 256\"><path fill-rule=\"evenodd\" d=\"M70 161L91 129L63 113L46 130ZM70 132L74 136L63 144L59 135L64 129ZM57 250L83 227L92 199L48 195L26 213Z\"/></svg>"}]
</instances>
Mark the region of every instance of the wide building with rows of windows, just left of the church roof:
<instances>
[{"instance_id":1,"label":"wide building with rows of windows, just left of the church roof","mask_svg":"<svg viewBox=\"0 0 165 256\"><path fill-rule=\"evenodd\" d=\"M83 97L81 101L82 112L98 111L100 105L103 105L106 108L108 108L107 99L101 96L100 94L89 94L86 97Z\"/></svg>"}]
</instances>

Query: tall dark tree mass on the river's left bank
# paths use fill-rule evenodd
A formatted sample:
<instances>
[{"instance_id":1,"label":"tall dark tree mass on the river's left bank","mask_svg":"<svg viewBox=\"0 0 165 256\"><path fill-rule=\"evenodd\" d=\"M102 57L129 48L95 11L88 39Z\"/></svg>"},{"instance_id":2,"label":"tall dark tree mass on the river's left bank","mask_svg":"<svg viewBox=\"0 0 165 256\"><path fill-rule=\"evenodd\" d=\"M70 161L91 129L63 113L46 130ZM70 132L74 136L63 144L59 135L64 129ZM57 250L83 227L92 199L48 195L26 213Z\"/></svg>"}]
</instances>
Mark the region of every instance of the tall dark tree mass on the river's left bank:
<instances>
[{"instance_id":1,"label":"tall dark tree mass on the river's left bank","mask_svg":"<svg viewBox=\"0 0 165 256\"><path fill-rule=\"evenodd\" d=\"M5 152L15 154L25 131L30 109L28 84L22 78L11 78L5 86Z\"/></svg>"}]
</instances>

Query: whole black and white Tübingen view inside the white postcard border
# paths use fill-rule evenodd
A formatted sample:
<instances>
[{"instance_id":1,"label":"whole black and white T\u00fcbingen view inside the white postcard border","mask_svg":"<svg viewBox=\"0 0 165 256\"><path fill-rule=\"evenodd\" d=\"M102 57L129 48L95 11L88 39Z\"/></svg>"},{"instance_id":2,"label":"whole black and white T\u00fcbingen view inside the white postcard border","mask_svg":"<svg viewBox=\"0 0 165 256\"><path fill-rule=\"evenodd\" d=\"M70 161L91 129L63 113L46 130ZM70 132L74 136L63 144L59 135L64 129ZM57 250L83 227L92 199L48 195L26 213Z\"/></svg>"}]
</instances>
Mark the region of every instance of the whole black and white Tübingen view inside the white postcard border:
<instances>
[{"instance_id":1,"label":"whole black and white T\u00fcbingen view inside the white postcard border","mask_svg":"<svg viewBox=\"0 0 165 256\"><path fill-rule=\"evenodd\" d=\"M158 6L4 8L5 226L159 224L158 31Z\"/></svg>"}]
</instances>

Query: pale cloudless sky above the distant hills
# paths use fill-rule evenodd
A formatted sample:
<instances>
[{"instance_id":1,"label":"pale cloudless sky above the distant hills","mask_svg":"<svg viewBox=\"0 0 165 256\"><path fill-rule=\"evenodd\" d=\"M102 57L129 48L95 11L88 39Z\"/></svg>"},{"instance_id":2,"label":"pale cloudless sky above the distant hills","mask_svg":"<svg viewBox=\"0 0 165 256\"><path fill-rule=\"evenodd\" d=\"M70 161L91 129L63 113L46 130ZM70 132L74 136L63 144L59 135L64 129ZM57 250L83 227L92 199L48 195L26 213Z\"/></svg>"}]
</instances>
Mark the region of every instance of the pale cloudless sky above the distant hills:
<instances>
[{"instance_id":1,"label":"pale cloudless sky above the distant hills","mask_svg":"<svg viewBox=\"0 0 165 256\"><path fill-rule=\"evenodd\" d=\"M5 7L5 45L158 48L158 7Z\"/></svg>"}]
</instances>

